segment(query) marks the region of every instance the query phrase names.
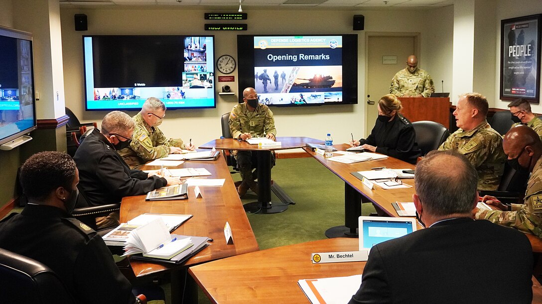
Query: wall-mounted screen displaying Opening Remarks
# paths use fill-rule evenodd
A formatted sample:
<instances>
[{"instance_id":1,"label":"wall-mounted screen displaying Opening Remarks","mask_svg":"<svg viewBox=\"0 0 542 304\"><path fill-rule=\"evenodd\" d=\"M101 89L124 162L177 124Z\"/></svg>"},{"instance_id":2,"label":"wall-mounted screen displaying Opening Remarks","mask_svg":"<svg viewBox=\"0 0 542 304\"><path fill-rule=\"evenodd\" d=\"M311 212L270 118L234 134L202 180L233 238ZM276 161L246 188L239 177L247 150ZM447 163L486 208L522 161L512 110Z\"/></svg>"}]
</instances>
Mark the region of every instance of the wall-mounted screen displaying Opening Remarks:
<instances>
[{"instance_id":1,"label":"wall-mounted screen displaying Opening Remarks","mask_svg":"<svg viewBox=\"0 0 542 304\"><path fill-rule=\"evenodd\" d=\"M239 91L254 87L260 103L358 103L357 35L239 35L237 58Z\"/></svg>"}]
</instances>

